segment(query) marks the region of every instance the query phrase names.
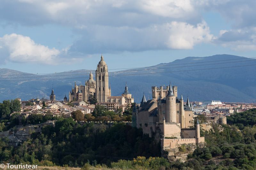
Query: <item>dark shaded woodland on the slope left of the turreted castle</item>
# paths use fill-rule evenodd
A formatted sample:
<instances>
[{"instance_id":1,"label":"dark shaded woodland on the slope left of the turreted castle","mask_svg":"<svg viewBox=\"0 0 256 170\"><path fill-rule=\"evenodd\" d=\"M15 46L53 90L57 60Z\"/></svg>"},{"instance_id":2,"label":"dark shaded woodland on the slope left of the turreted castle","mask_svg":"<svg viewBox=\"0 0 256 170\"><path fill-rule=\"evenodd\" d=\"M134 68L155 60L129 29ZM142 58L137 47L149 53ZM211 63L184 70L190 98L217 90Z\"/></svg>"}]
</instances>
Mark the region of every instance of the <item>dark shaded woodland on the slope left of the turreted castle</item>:
<instances>
[{"instance_id":1,"label":"dark shaded woodland on the slope left of the turreted castle","mask_svg":"<svg viewBox=\"0 0 256 170\"><path fill-rule=\"evenodd\" d=\"M108 128L105 124L80 125L72 118L60 118L55 126L44 126L42 133L34 133L31 139L18 148L1 139L1 160L8 163L40 163L68 166L111 165L119 159L160 157L160 143L143 135L141 129L117 123ZM2 154L4 153L4 154Z\"/></svg>"}]
</instances>

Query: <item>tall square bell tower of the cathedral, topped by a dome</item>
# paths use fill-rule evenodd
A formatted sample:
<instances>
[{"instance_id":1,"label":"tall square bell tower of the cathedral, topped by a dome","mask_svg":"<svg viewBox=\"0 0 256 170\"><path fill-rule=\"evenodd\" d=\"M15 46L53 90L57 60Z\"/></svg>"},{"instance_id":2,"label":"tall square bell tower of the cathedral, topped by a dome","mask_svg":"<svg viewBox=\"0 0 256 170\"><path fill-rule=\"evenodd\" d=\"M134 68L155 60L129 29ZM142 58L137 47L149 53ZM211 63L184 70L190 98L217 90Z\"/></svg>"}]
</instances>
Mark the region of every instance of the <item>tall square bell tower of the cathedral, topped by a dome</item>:
<instances>
[{"instance_id":1,"label":"tall square bell tower of the cathedral, topped by a dome","mask_svg":"<svg viewBox=\"0 0 256 170\"><path fill-rule=\"evenodd\" d=\"M96 99L99 103L107 102L108 96L111 96L108 88L108 66L101 55L97 70L95 71L96 79Z\"/></svg>"}]
</instances>

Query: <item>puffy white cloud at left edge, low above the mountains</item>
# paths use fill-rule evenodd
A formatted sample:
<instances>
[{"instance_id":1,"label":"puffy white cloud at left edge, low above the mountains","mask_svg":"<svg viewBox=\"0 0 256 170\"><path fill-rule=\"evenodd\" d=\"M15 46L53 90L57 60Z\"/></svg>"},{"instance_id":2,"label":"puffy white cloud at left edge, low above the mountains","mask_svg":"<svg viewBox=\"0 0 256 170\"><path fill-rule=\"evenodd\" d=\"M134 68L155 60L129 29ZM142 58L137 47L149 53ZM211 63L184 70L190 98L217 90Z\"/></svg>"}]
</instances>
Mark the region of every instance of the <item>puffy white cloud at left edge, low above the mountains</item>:
<instances>
[{"instance_id":1,"label":"puffy white cloud at left edge, low above the mountains","mask_svg":"<svg viewBox=\"0 0 256 170\"><path fill-rule=\"evenodd\" d=\"M0 46L2 58L12 62L56 64L60 55L58 49L36 44L30 37L15 33L0 37Z\"/></svg>"}]
</instances>

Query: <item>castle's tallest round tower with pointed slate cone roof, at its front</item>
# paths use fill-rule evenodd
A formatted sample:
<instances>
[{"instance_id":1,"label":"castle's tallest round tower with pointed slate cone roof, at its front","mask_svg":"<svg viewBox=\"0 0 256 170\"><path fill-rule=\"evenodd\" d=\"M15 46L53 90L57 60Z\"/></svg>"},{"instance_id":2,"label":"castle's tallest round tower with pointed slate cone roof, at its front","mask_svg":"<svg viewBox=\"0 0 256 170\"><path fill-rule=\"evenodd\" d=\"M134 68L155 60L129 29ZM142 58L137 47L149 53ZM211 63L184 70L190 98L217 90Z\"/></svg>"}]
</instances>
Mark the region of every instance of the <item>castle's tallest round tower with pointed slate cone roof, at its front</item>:
<instances>
[{"instance_id":1,"label":"castle's tallest round tower with pointed slate cone roof, at its front","mask_svg":"<svg viewBox=\"0 0 256 170\"><path fill-rule=\"evenodd\" d=\"M176 96L172 92L170 83L168 93L166 95L166 122L176 122Z\"/></svg>"}]
</instances>

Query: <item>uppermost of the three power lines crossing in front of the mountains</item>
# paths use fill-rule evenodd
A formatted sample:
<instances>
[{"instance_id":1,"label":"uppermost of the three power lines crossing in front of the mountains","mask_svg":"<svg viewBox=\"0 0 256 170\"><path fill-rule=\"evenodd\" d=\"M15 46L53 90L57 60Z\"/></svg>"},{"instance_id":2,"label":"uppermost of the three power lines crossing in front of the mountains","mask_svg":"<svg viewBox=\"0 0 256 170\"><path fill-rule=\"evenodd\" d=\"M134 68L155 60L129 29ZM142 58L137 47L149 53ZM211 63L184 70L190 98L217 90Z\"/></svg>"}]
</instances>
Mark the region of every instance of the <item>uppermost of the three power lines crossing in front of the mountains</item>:
<instances>
[{"instance_id":1,"label":"uppermost of the three power lines crossing in front of the mountains","mask_svg":"<svg viewBox=\"0 0 256 170\"><path fill-rule=\"evenodd\" d=\"M123 70L123 69L138 69L138 68L148 68L148 67L162 67L162 66L171 66L171 65L183 65L183 64L196 64L196 63L211 63L211 62L218 62L218 61L231 61L231 60L244 60L244 59L251 59L256 57L248 57L248 58L236 58L236 59L228 59L228 60L215 60L215 61L205 61L205 62L194 62L194 63L180 63L180 64L164 64L164 65L156 65L156 66L147 66L147 67L130 67L130 68L119 68L119 69L108 69L108 70ZM89 72L87 71L66 71L66 72L54 72L54 73L36 73L36 74L11 74L11 75L1 75L1 76L21 76L21 75L40 75L40 74L60 74L60 73L75 73L75 72Z\"/></svg>"}]
</instances>

